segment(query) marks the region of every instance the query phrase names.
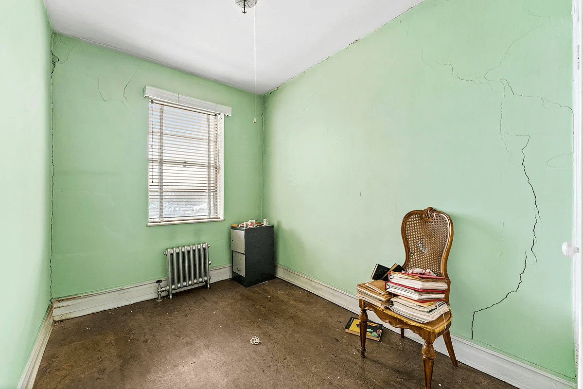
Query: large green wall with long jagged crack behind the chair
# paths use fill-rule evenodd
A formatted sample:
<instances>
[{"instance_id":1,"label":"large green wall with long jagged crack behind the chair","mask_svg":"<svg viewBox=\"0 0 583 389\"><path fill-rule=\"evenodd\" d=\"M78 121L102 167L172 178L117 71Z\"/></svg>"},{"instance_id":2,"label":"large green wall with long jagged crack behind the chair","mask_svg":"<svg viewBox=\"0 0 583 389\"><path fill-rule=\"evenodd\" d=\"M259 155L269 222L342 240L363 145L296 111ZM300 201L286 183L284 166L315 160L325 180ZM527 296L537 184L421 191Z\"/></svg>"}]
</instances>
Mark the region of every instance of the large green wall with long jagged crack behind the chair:
<instances>
[{"instance_id":1,"label":"large green wall with long jagged crack behind the chair","mask_svg":"<svg viewBox=\"0 0 583 389\"><path fill-rule=\"evenodd\" d=\"M454 221L452 333L573 381L570 12L426 0L267 94L278 263L354 293L433 206Z\"/></svg>"}]
</instances>

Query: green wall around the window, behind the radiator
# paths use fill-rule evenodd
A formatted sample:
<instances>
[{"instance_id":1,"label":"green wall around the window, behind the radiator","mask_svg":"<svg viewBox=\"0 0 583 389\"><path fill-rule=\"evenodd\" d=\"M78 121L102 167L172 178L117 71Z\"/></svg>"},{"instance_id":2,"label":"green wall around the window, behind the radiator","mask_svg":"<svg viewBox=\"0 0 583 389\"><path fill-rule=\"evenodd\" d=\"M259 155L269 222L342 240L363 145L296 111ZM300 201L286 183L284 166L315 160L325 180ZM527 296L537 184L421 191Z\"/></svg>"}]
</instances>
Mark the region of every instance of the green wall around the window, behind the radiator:
<instances>
[{"instance_id":1,"label":"green wall around the window, behind the radiator","mask_svg":"<svg viewBox=\"0 0 583 389\"><path fill-rule=\"evenodd\" d=\"M55 34L52 296L166 276L167 247L208 242L230 264L230 225L261 217L254 95ZM224 222L146 227L146 85L233 107L224 122ZM257 97L261 112L262 97Z\"/></svg>"}]
</instances>

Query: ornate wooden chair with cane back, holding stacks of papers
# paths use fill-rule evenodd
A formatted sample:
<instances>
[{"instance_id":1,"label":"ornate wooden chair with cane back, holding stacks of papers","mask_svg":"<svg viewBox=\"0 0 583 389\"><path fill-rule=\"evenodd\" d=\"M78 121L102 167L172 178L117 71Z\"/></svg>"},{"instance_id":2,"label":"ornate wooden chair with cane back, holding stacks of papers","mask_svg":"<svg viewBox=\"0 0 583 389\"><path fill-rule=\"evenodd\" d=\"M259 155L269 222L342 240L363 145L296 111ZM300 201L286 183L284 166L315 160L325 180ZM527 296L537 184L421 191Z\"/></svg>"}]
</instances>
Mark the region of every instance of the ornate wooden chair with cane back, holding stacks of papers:
<instances>
[{"instance_id":1,"label":"ornate wooden chair with cane back, holding stacks of papers","mask_svg":"<svg viewBox=\"0 0 583 389\"><path fill-rule=\"evenodd\" d=\"M451 242L454 239L454 226L449 216L431 207L423 211L411 211L403 218L401 236L405 246L405 264L403 264L403 268L406 270L411 268L430 269L436 275L447 278L448 288L445 292L445 301L449 303L450 282L447 276L447 257ZM401 338L405 338L405 328L423 338L425 341L422 348L423 373L426 389L431 389L433 360L436 358L433 342L441 335L443 335L451 362L454 363L454 366L458 366L458 361L455 359L454 346L451 344L451 336L449 335L451 311L429 323L417 323L388 308L382 309L361 299L359 299L359 306L360 355L362 358L366 358L364 352L366 352L367 310L370 310L385 323L401 328Z\"/></svg>"}]
</instances>

